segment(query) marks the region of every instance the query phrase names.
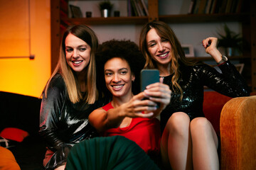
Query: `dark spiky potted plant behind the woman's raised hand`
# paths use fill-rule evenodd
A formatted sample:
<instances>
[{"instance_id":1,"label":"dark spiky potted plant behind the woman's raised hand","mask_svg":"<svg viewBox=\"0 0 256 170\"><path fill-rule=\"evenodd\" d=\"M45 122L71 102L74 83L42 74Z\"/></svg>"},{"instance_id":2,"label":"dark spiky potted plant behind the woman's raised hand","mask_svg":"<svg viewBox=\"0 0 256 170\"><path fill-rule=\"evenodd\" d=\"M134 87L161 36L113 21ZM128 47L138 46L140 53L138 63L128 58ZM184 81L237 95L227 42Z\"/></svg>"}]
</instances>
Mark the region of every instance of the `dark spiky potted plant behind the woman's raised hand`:
<instances>
[{"instance_id":1,"label":"dark spiky potted plant behind the woman's raised hand","mask_svg":"<svg viewBox=\"0 0 256 170\"><path fill-rule=\"evenodd\" d=\"M225 35L218 33L220 36L218 39L218 47L223 47L225 54L228 56L232 56L235 51L241 53L243 39L240 33L235 33L234 31L230 30L226 24L223 28Z\"/></svg>"}]
</instances>

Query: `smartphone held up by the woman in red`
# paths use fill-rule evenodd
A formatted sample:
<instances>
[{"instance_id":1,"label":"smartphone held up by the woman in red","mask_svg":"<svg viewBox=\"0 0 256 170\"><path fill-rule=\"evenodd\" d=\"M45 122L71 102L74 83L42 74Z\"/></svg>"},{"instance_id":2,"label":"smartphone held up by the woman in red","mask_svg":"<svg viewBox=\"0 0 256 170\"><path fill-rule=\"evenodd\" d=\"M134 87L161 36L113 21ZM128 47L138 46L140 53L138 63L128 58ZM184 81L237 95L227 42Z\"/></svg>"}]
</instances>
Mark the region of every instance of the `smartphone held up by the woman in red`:
<instances>
[{"instance_id":1,"label":"smartphone held up by the woman in red","mask_svg":"<svg viewBox=\"0 0 256 170\"><path fill-rule=\"evenodd\" d=\"M158 69L142 69L141 71L141 91L146 89L149 84L159 82Z\"/></svg>"}]
</instances>

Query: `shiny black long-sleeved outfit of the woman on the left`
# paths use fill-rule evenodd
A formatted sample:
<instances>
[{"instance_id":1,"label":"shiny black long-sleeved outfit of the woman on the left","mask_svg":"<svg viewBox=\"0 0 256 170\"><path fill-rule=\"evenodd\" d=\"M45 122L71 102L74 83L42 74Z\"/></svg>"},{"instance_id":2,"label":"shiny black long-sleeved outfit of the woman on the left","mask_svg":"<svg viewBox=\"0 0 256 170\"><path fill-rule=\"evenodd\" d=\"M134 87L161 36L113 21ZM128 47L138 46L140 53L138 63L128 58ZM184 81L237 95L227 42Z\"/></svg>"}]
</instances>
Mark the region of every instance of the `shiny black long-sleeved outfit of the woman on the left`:
<instances>
[{"instance_id":1,"label":"shiny black long-sleeved outfit of the woman on the left","mask_svg":"<svg viewBox=\"0 0 256 170\"><path fill-rule=\"evenodd\" d=\"M88 121L89 114L104 103L97 101L90 105L85 101L73 104L69 97L65 82L60 74L56 74L50 81L48 96L41 103L40 130L48 144L48 149L53 153L46 169L66 162L68 153L82 140L97 136L97 132Z\"/></svg>"}]
</instances>

